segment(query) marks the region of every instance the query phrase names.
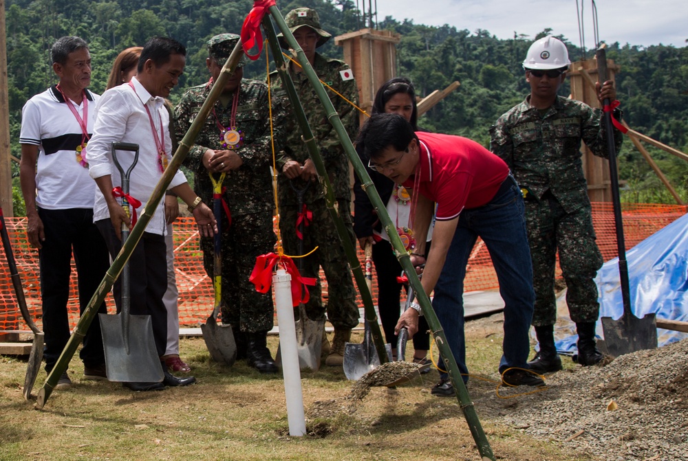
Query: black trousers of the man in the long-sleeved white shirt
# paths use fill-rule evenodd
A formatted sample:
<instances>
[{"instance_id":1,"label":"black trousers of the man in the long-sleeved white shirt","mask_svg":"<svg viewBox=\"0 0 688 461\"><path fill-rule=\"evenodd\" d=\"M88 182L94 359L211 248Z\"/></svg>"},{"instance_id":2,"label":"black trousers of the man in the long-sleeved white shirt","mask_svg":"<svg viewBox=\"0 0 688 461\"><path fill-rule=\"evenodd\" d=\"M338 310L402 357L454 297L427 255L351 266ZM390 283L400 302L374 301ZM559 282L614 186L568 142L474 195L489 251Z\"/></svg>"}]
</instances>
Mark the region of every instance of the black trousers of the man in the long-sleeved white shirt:
<instances>
[{"instance_id":1,"label":"black trousers of the man in the long-sleeved white shirt","mask_svg":"<svg viewBox=\"0 0 688 461\"><path fill-rule=\"evenodd\" d=\"M112 258L116 258L122 247L111 221L96 221L98 230L103 234L107 249ZM138 245L129 258L129 288L131 304L129 313L133 315L150 315L153 324L153 339L158 356L162 357L167 349L167 309L162 297L167 290L167 257L165 238L162 235L144 232ZM120 312L122 299L121 278L115 281L115 303Z\"/></svg>"}]
</instances>

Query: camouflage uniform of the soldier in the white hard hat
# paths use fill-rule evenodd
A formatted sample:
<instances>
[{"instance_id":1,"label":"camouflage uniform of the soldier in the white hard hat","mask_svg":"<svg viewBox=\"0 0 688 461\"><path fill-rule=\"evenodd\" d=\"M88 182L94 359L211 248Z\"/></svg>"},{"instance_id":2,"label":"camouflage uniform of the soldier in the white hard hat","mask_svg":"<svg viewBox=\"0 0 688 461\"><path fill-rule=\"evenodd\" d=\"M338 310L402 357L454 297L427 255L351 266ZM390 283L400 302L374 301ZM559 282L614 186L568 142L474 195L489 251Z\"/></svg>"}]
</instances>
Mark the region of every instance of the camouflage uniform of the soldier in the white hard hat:
<instances>
[{"instance_id":1,"label":"camouflage uniform of the soldier in the white hard hat","mask_svg":"<svg viewBox=\"0 0 688 461\"><path fill-rule=\"evenodd\" d=\"M594 155L608 157L602 112L557 96L544 113L529 98L491 127L491 148L526 189L526 226L533 260L534 326L557 321L555 260L566 280L566 302L574 322L599 316L593 278L602 266L595 242L588 187L583 176L581 139ZM621 132L614 130L617 150Z\"/></svg>"}]
</instances>

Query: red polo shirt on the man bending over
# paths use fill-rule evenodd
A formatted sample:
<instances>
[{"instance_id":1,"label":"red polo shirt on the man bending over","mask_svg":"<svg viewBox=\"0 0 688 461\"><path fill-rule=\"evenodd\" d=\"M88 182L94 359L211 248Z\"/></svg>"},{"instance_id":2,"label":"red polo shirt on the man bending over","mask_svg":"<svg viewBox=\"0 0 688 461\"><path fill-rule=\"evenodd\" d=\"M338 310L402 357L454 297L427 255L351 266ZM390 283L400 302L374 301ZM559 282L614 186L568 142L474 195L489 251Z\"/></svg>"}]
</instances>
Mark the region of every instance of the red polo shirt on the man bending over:
<instances>
[{"instance_id":1,"label":"red polo shirt on the man bending over","mask_svg":"<svg viewBox=\"0 0 688 461\"><path fill-rule=\"evenodd\" d=\"M437 203L436 219L449 221L465 208L489 203L509 174L504 161L471 139L417 132L420 139L420 193Z\"/></svg>"}]
</instances>

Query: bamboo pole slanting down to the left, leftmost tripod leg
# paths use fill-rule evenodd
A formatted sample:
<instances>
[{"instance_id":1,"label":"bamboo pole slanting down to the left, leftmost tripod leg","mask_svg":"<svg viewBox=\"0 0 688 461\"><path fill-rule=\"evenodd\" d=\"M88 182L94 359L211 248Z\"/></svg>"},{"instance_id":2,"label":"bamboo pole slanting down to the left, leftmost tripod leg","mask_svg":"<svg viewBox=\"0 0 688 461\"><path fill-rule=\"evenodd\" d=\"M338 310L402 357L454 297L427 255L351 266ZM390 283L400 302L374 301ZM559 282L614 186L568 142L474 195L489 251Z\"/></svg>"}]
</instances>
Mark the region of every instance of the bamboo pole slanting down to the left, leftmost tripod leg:
<instances>
[{"instance_id":1,"label":"bamboo pole slanting down to the left, leftmost tripod leg","mask_svg":"<svg viewBox=\"0 0 688 461\"><path fill-rule=\"evenodd\" d=\"M179 147L177 148L175 155L172 157L172 161L164 170L162 177L160 177L160 180L158 181L158 184L155 185L155 189L153 189L153 193L148 199L146 207L144 208L142 214L138 217L136 225L134 225L133 229L131 229L129 238L127 238L127 241L124 243L124 245L122 245L119 254L105 273L103 280L100 281L96 293L94 293L84 309L83 314L76 324L76 328L74 328L74 332L69 337L69 341L67 341L67 345L63 349L60 357L57 359L55 367L52 369L50 374L47 375L47 379L45 380L43 387L41 387L41 390L39 390L38 398L36 399L37 408L41 409L43 406L45 406L45 403L47 402L48 398L50 398L50 394L52 394L52 391L57 385L57 381L60 379L60 376L65 372L65 370L67 370L69 361L72 360L72 357L74 357L76 348L78 348L79 344L83 340L83 337L86 335L91 322L96 316L96 313L98 313L98 306L100 306L103 300L105 300L105 296L107 296L107 293L112 288L115 280L117 280L117 278L120 276L120 272L122 271L125 263L131 257L133 249L136 247L136 245L138 245L138 241L143 236L143 232L146 229L149 221L151 221L151 217L153 217L153 213L155 213L158 203L160 203L162 196L164 196L165 191L167 190L167 186L169 186L175 173L177 170L179 170L180 166L182 166L182 161L184 161L186 155L189 153L189 149L191 146L193 146L193 142L203 128L203 124L206 121L206 118L208 118L211 109L213 109L213 104L215 104L215 101L217 101L219 95L222 93L224 83L233 72L237 63L239 63L239 59L241 58L241 54L243 52L241 41L239 41L234 47L232 54L230 54L229 58L227 58L226 63L224 63L222 71L220 71L219 77L217 78L217 82L215 82L215 85L213 85L213 89L211 89L211 93L208 94L208 98L201 106L197 117L191 123L189 131L186 132L184 139L182 139L182 141L179 143Z\"/></svg>"}]
</instances>

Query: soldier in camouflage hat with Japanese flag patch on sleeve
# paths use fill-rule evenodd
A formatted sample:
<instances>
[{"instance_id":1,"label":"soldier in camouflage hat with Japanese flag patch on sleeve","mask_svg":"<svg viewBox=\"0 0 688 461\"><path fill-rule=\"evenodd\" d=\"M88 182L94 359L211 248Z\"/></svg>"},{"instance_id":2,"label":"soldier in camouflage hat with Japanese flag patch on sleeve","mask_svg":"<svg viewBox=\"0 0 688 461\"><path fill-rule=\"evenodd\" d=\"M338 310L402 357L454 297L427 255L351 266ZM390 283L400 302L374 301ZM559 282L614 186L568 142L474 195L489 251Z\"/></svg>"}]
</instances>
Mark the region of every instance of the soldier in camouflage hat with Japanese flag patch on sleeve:
<instances>
[{"instance_id":1,"label":"soldier in camouflage hat with Japanese flag patch on sleeve","mask_svg":"<svg viewBox=\"0 0 688 461\"><path fill-rule=\"evenodd\" d=\"M320 25L320 18L315 10L310 8L296 8L288 12L285 21L289 30L294 34L299 46L312 65L320 80L325 82L343 95L344 98L358 104L358 90L350 67L341 60L329 59L316 52L316 48L327 42L331 35ZM287 47L283 36L279 34L282 47ZM294 87L299 95L301 105L308 115L308 123L320 149L327 174L337 201L339 213L343 218L348 238L355 242L351 219L351 192L349 181L349 162L338 137L327 120L327 114L317 98L315 91L296 63L289 64L289 74L294 81ZM306 188L303 201L312 212L312 221L303 232L305 253L316 246L317 251L304 258L304 276L318 277L319 267L323 267L327 277L327 317L334 326L334 340L325 363L330 366L341 366L343 363L344 344L350 340L351 328L358 325L358 308L356 307L356 290L352 282L352 273L345 257L340 238L332 217L325 207L323 186L318 181L318 175L313 161L308 155L308 149L301 139L301 129L296 117L290 109L286 98L286 91L277 72L270 74L272 89L275 97L285 101L291 117L287 119L286 146L278 158L277 168L280 172L277 191L279 195L280 229L284 249L287 254L297 254L299 236L297 236L297 219L302 210L297 210L297 194L292 189ZM349 102L336 95L331 89L326 89L330 100L334 104L342 123L350 137L358 131L357 113ZM347 236L343 236L347 238ZM321 298L319 284L310 287L310 300L306 304L306 312L312 320L325 318L325 307ZM323 341L323 352L327 352L327 341Z\"/></svg>"}]
</instances>

